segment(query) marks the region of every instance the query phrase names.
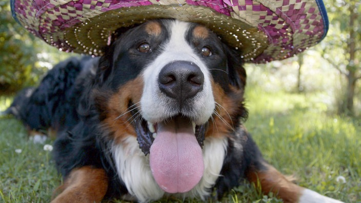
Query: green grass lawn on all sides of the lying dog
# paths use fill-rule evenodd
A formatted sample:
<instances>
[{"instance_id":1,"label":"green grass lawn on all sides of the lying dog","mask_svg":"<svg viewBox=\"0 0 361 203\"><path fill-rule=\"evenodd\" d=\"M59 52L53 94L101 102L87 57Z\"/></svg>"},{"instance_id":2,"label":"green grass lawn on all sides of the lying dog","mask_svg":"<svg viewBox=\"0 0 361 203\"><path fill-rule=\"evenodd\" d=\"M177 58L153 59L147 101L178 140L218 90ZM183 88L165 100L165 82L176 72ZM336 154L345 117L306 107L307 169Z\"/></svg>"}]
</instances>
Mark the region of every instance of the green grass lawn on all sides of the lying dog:
<instances>
[{"instance_id":1,"label":"green grass lawn on all sides of the lying dog","mask_svg":"<svg viewBox=\"0 0 361 203\"><path fill-rule=\"evenodd\" d=\"M10 102L11 98L0 96L0 111ZM320 93L250 88L247 107L246 127L273 166L294 174L301 186L346 202L361 202L360 120L329 114ZM0 118L0 202L49 202L61 177L43 146L28 139L19 121ZM339 176L346 182L336 181ZM280 202L248 184L230 191L223 201Z\"/></svg>"}]
</instances>

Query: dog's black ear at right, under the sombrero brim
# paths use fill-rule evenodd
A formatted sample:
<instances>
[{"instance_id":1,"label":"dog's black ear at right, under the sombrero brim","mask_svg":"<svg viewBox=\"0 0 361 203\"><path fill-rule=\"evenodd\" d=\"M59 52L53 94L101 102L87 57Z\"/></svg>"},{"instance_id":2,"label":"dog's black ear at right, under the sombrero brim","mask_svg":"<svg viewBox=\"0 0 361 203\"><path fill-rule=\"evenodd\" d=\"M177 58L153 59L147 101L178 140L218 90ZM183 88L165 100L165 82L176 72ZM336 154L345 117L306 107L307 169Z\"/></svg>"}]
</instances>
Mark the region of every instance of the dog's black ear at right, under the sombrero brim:
<instances>
[{"instance_id":1,"label":"dog's black ear at right, under the sombrero brim","mask_svg":"<svg viewBox=\"0 0 361 203\"><path fill-rule=\"evenodd\" d=\"M242 58L240 58L236 50L227 45L223 46L227 55L228 77L231 85L240 89L245 88L247 75L246 70L243 68L244 62Z\"/></svg>"}]
</instances>

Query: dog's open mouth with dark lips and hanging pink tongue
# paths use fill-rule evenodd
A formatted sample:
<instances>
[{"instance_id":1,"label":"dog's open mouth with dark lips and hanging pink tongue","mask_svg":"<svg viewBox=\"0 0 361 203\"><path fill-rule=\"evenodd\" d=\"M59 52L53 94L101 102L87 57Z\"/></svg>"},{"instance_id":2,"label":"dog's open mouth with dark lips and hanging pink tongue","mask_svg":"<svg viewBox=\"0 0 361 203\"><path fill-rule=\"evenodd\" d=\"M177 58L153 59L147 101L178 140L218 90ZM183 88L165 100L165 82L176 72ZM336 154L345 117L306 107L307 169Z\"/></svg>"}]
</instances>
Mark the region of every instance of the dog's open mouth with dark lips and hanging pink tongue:
<instances>
[{"instance_id":1,"label":"dog's open mouth with dark lips and hanging pink tongue","mask_svg":"<svg viewBox=\"0 0 361 203\"><path fill-rule=\"evenodd\" d=\"M149 153L150 168L159 187L168 193L190 191L204 172L201 147L205 125L196 126L182 115L156 124L138 116L134 124L139 147L145 155Z\"/></svg>"}]
</instances>

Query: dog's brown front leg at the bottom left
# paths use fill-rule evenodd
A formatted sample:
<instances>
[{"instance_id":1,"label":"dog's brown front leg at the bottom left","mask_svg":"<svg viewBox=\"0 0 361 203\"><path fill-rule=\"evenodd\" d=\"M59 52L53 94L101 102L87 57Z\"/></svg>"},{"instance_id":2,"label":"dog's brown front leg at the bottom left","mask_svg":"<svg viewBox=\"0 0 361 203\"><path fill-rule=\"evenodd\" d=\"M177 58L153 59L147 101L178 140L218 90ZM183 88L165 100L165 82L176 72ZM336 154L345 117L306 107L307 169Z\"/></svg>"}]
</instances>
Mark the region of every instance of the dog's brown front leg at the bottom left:
<instances>
[{"instance_id":1,"label":"dog's brown front leg at the bottom left","mask_svg":"<svg viewBox=\"0 0 361 203\"><path fill-rule=\"evenodd\" d=\"M53 196L52 203L101 202L108 189L108 178L103 169L85 166L76 168L65 178Z\"/></svg>"}]
</instances>

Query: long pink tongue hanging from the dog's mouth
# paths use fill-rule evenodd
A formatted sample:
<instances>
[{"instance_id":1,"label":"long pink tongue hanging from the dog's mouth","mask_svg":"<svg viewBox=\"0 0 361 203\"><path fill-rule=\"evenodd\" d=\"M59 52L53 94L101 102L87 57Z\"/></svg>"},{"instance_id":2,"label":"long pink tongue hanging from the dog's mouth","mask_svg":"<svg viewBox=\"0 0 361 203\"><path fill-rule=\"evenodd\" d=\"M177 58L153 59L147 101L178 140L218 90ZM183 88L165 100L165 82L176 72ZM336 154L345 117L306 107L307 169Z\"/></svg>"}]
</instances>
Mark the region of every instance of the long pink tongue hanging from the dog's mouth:
<instances>
[{"instance_id":1,"label":"long pink tongue hanging from the dog's mouth","mask_svg":"<svg viewBox=\"0 0 361 203\"><path fill-rule=\"evenodd\" d=\"M157 125L149 158L155 181L168 193L188 192L203 176L202 149L187 119Z\"/></svg>"}]
</instances>

